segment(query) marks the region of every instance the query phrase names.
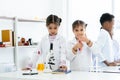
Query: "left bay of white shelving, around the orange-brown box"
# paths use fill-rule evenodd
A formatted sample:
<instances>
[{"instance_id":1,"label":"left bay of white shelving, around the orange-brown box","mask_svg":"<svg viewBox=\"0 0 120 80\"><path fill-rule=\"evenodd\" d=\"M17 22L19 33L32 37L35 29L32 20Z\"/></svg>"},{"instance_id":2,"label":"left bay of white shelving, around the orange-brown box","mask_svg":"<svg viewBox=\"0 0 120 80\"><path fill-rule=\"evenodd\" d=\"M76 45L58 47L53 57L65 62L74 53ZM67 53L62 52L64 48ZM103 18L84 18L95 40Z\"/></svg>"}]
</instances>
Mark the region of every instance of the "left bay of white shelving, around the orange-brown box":
<instances>
[{"instance_id":1,"label":"left bay of white shelving, around the orange-brown box","mask_svg":"<svg viewBox=\"0 0 120 80\"><path fill-rule=\"evenodd\" d=\"M14 20L14 17L0 16L0 42L4 41L2 40L2 30L10 30L14 32ZM4 37L6 38L6 34L4 34ZM9 37L12 38L12 35ZM4 44L7 43L9 42L5 42ZM2 43L0 46L3 46ZM8 72L12 70L12 68L15 66L14 54L15 46L0 47L0 72Z\"/></svg>"}]
</instances>

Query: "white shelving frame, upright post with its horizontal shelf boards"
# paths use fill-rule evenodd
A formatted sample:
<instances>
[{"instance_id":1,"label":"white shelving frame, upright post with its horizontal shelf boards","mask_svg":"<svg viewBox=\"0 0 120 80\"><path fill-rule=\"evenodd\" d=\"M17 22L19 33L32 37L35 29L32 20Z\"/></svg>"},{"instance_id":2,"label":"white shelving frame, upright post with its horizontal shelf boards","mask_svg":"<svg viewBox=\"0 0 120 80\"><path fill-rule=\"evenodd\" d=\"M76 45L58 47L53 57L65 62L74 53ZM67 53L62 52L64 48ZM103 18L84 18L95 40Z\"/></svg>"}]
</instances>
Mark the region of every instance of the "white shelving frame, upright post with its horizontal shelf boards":
<instances>
[{"instance_id":1,"label":"white shelving frame, upright post with its horizontal shelf boards","mask_svg":"<svg viewBox=\"0 0 120 80\"><path fill-rule=\"evenodd\" d=\"M24 17L20 18L20 17L0 16L0 20L1 20L1 24L2 24L2 22L6 23L7 22L6 20L8 20L8 21L11 20L12 22L10 22L10 24L12 25L13 31L15 33L14 34L14 43L15 43L15 46L0 47L0 51L1 52L5 51L5 53L6 53L6 50L8 50L8 51L10 50L10 53L12 53L12 56L13 56L13 61L14 61L15 65L17 66L17 68L19 68L20 67L20 59L21 59L21 58L19 58L19 53L21 53L21 51L22 52L25 52L25 51L27 52L29 50L34 50L34 49L38 48L38 45L36 45L36 44L29 45L29 46L18 46L18 32L17 31L19 29L18 28L19 25L21 25L21 24L23 24L23 25L26 25L26 24L30 24L30 25L31 24L35 24L35 26L39 27L39 24L43 25L46 22L46 19L44 19L44 18L42 18L42 19L37 19L37 18L36 19L33 19L33 18L29 19L29 18L24 18ZM4 57L4 55L3 55L3 57Z\"/></svg>"}]
</instances>

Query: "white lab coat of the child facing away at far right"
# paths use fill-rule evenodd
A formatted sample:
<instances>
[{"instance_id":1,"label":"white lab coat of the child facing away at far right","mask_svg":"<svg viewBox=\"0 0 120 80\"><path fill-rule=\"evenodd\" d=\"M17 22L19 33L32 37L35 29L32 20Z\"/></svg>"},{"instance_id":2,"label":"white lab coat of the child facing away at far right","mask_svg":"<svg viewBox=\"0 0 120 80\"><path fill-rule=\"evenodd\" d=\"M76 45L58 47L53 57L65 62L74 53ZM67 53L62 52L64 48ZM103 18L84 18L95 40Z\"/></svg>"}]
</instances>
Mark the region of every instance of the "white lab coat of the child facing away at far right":
<instances>
[{"instance_id":1,"label":"white lab coat of the child facing away at far right","mask_svg":"<svg viewBox=\"0 0 120 80\"><path fill-rule=\"evenodd\" d=\"M100 34L95 43L93 43L91 50L101 55L98 57L98 66L105 67L106 64L103 61L114 62L113 41L105 29L100 30Z\"/></svg>"}]
</instances>

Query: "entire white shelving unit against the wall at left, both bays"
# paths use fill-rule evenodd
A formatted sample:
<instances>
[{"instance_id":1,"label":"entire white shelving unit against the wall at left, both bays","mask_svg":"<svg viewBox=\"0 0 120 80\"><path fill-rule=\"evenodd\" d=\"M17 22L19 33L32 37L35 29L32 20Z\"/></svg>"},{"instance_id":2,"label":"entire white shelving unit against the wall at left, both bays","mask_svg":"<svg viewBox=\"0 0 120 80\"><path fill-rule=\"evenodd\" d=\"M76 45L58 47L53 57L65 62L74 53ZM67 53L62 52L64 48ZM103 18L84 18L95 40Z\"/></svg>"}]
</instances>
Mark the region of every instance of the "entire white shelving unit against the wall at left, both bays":
<instances>
[{"instance_id":1,"label":"entire white shelving unit against the wall at left, both bays","mask_svg":"<svg viewBox=\"0 0 120 80\"><path fill-rule=\"evenodd\" d=\"M25 66L25 61L37 48L37 44L45 31L44 20L20 19L17 17L0 17L0 30L10 29L14 32L14 46L0 47L0 64L13 64L18 69ZM47 31L46 31L47 32ZM0 35L0 37L2 37ZM34 45L19 46L20 38L26 41L31 38ZM0 42L2 39L0 38Z\"/></svg>"}]
</instances>

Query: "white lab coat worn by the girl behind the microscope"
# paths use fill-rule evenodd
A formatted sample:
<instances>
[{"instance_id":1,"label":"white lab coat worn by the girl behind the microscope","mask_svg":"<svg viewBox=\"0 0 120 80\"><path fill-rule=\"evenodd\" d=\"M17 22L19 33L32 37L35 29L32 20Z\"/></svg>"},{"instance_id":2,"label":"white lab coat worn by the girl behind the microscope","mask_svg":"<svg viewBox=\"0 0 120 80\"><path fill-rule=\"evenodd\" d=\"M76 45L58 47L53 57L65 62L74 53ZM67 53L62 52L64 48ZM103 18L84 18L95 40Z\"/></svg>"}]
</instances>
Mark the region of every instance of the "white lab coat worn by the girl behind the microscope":
<instances>
[{"instance_id":1,"label":"white lab coat worn by the girl behind the microscope","mask_svg":"<svg viewBox=\"0 0 120 80\"><path fill-rule=\"evenodd\" d=\"M46 56L48 52L50 51L50 41L49 41L49 35L46 35L45 37L42 38L37 52L40 51L39 54L34 54L35 56L32 57L32 65L33 67L35 66L36 62L38 60L41 60L40 58L43 59L43 62L46 62ZM55 57L55 66L52 66L53 70L56 70L59 68L61 65L66 66L66 41L65 39L60 36L59 34L56 35L56 38L53 41L53 53ZM38 61L39 62L39 61ZM27 67L29 67L30 64L28 64Z\"/></svg>"}]
</instances>

